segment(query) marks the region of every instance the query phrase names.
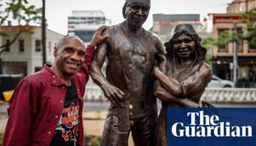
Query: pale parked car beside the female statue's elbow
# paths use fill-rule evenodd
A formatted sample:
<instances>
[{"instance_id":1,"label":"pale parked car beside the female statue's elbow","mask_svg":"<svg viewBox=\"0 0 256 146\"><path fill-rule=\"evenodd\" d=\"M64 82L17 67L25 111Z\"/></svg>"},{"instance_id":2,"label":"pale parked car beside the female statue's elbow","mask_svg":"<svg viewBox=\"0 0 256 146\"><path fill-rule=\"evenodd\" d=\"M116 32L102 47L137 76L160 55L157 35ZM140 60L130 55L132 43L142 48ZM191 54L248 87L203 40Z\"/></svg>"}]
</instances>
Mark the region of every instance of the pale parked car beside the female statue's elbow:
<instances>
[{"instance_id":1,"label":"pale parked car beside the female statue's elbow","mask_svg":"<svg viewBox=\"0 0 256 146\"><path fill-rule=\"evenodd\" d=\"M208 88L233 88L234 83L230 80L222 80L216 75L211 75L211 82L208 83Z\"/></svg>"}]
</instances>

